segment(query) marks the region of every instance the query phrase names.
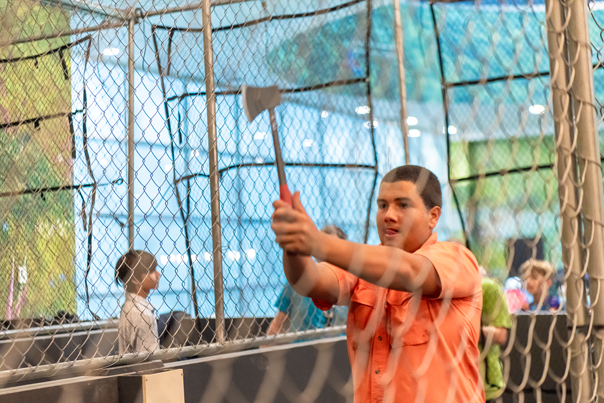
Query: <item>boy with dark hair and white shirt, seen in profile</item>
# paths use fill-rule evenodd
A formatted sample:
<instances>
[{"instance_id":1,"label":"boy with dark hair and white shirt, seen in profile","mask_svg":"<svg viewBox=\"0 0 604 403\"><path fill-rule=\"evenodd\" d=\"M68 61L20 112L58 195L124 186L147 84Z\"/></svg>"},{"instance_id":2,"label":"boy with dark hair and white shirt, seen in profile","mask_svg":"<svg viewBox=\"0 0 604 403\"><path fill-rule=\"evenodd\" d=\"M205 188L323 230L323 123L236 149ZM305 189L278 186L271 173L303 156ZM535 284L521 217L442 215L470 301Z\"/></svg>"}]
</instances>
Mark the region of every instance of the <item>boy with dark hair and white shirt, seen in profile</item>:
<instances>
[{"instance_id":1,"label":"boy with dark hair and white shirt, seen in profile","mask_svg":"<svg viewBox=\"0 0 604 403\"><path fill-rule=\"evenodd\" d=\"M120 354L159 349L157 320L147 297L158 288L160 276L157 260L146 251L128 251L115 264L115 282L126 291L118 324Z\"/></svg>"}]
</instances>

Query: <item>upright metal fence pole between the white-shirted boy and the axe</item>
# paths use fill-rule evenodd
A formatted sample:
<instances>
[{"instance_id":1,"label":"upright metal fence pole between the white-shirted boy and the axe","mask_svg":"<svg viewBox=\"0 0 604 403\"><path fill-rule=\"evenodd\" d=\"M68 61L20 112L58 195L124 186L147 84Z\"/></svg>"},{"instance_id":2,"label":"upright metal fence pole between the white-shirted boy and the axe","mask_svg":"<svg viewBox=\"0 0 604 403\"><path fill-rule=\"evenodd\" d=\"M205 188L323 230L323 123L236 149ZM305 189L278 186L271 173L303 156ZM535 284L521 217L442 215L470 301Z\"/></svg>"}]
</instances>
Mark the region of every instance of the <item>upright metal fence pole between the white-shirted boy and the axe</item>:
<instances>
[{"instance_id":1,"label":"upright metal fence pole between the white-shirted boy and the axe","mask_svg":"<svg viewBox=\"0 0 604 403\"><path fill-rule=\"evenodd\" d=\"M202 4L204 30L205 94L208 112L208 157L210 159L210 207L212 211L212 255L214 262L214 312L216 314L216 341L225 341L224 291L222 277L222 241L220 233L220 198L218 147L216 138L216 89L214 88L214 54L210 0Z\"/></svg>"}]
</instances>

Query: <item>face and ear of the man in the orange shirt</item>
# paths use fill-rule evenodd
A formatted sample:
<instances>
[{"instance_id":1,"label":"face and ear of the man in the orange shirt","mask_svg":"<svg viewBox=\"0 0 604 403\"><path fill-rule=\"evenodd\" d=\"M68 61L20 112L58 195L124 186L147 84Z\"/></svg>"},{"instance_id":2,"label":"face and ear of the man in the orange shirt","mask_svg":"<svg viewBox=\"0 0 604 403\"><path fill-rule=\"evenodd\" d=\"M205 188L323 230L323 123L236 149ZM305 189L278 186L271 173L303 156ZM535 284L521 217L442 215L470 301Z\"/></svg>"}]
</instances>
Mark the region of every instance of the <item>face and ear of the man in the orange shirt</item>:
<instances>
[{"instance_id":1,"label":"face and ear of the man in the orange shirt","mask_svg":"<svg viewBox=\"0 0 604 403\"><path fill-rule=\"evenodd\" d=\"M412 182L382 182L377 195L377 234L382 245L413 253L418 250L440 218L440 207L423 204Z\"/></svg>"}]
</instances>

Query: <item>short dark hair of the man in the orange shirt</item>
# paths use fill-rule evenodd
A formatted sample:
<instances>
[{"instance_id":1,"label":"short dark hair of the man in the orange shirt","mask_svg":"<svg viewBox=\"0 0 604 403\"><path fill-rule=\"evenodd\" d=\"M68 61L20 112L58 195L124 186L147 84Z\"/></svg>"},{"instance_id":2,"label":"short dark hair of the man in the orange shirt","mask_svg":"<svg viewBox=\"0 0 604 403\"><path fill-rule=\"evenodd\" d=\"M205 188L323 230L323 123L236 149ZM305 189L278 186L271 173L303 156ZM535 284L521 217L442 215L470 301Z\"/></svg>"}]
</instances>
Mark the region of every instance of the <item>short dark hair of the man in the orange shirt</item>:
<instances>
[{"instance_id":1,"label":"short dark hair of the man in the orange shirt","mask_svg":"<svg viewBox=\"0 0 604 403\"><path fill-rule=\"evenodd\" d=\"M439 178L434 173L417 165L403 165L394 168L382 178L382 183L398 181L411 182L416 185L423 204L430 210L432 207L443 207L443 196L440 192Z\"/></svg>"}]
</instances>

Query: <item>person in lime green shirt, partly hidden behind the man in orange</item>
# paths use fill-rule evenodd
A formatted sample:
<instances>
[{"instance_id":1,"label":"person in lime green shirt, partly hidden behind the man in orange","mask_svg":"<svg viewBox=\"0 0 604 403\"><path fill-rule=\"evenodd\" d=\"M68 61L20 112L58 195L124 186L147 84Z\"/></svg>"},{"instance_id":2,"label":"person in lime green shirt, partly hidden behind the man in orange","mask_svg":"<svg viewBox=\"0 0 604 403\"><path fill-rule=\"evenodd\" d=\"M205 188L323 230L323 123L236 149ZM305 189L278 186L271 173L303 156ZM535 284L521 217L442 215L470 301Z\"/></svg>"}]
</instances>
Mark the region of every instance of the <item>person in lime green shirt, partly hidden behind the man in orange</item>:
<instances>
[{"instance_id":1,"label":"person in lime green shirt, partly hidden behind the man in orange","mask_svg":"<svg viewBox=\"0 0 604 403\"><path fill-rule=\"evenodd\" d=\"M483 311L480 316L480 373L484 379L484 395L487 401L498 398L506 389L501 347L507 343L512 317L507 309L503 287L489 277L483 269ZM484 349L487 348L486 355Z\"/></svg>"}]
</instances>

